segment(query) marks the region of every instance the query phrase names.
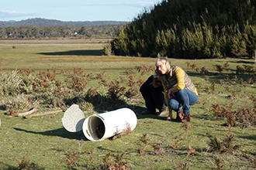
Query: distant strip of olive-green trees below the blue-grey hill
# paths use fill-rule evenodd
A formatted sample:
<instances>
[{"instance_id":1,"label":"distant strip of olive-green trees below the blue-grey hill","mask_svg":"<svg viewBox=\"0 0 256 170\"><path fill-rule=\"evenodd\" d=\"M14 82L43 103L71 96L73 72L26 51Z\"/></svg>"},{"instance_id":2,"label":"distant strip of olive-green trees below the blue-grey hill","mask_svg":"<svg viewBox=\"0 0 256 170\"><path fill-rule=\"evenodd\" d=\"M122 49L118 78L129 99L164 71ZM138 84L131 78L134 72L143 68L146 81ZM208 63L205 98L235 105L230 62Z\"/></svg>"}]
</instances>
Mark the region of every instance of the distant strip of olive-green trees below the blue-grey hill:
<instances>
[{"instance_id":1,"label":"distant strip of olive-green trees below the blue-grey hill","mask_svg":"<svg viewBox=\"0 0 256 170\"><path fill-rule=\"evenodd\" d=\"M106 26L20 26L0 27L1 39L40 39L60 37L115 37L121 25Z\"/></svg>"}]
</instances>

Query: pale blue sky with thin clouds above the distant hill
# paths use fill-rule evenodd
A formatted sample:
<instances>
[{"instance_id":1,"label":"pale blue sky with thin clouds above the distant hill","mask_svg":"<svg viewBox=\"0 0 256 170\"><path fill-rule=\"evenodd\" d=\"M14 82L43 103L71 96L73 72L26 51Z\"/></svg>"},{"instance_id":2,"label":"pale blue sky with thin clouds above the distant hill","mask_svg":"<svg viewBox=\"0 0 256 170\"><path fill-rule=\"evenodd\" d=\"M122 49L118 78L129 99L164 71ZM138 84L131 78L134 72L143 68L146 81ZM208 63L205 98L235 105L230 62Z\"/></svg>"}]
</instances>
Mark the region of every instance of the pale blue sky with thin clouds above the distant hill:
<instances>
[{"instance_id":1,"label":"pale blue sky with thin clouds above the distant hill","mask_svg":"<svg viewBox=\"0 0 256 170\"><path fill-rule=\"evenodd\" d=\"M132 21L156 0L12 0L0 4L0 21L57 19L61 21Z\"/></svg>"}]
</instances>

